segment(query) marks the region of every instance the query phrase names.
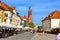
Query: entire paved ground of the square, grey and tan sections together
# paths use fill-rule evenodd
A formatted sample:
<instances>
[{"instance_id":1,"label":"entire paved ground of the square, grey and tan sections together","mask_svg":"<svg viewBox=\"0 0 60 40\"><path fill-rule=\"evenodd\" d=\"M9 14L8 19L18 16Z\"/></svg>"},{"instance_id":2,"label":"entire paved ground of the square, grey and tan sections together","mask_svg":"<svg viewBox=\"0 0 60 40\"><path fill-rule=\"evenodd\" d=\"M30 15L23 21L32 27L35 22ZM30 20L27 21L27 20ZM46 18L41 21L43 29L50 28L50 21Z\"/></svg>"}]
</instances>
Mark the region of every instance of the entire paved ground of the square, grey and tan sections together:
<instances>
[{"instance_id":1,"label":"entire paved ground of the square, grey and tan sections together","mask_svg":"<svg viewBox=\"0 0 60 40\"><path fill-rule=\"evenodd\" d=\"M46 33L45 35L40 35L40 33L32 34L30 32L25 32L16 36L1 38L0 40L56 40L56 35Z\"/></svg>"}]
</instances>

